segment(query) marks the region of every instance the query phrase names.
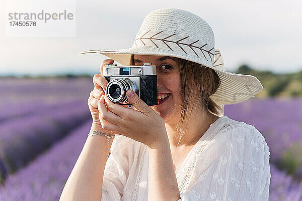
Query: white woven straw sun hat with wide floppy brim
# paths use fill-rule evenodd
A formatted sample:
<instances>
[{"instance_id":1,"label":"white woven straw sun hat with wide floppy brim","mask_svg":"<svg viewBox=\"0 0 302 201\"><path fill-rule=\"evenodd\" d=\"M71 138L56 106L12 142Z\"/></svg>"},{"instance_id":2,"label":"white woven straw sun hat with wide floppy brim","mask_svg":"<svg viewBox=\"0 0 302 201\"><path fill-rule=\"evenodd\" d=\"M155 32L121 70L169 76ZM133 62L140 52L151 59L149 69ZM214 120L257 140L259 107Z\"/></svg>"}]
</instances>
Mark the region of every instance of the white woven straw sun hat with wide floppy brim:
<instances>
[{"instance_id":1,"label":"white woven straw sun hat with wide floppy brim","mask_svg":"<svg viewBox=\"0 0 302 201\"><path fill-rule=\"evenodd\" d=\"M221 84L210 98L222 109L224 104L245 101L263 89L252 75L225 71L220 52L214 49L211 27L199 16L181 9L158 9L148 13L131 48L87 50L79 54L86 53L103 54L121 65L130 65L131 55L171 56L202 64L220 77Z\"/></svg>"}]
</instances>

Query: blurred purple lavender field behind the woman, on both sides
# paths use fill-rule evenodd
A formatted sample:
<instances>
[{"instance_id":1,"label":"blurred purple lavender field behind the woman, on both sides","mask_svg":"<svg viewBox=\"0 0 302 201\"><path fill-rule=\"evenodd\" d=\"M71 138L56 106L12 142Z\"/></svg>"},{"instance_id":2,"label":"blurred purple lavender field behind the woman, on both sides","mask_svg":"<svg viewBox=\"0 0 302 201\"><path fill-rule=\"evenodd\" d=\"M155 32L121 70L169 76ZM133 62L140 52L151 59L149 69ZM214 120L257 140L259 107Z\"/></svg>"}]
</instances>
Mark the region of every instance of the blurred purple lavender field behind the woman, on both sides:
<instances>
[{"instance_id":1,"label":"blurred purple lavender field behind the woman, on both sides","mask_svg":"<svg viewBox=\"0 0 302 201\"><path fill-rule=\"evenodd\" d=\"M0 79L0 200L58 200L91 126L92 78ZM302 200L302 98L226 105L265 137L270 201Z\"/></svg>"}]
</instances>

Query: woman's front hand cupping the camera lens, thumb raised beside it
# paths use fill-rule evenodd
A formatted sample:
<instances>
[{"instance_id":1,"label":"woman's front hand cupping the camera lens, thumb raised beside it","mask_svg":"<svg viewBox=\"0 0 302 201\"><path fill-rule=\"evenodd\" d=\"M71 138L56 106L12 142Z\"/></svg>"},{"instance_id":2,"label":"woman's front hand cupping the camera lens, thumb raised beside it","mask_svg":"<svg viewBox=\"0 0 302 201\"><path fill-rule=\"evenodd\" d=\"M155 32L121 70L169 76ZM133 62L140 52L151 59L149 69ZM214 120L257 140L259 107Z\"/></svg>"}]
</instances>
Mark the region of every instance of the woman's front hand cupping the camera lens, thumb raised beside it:
<instances>
[{"instance_id":1,"label":"woman's front hand cupping the camera lens, thumb raised beside it","mask_svg":"<svg viewBox=\"0 0 302 201\"><path fill-rule=\"evenodd\" d=\"M136 110L113 103L106 95L101 95L97 104L102 128L132 138L150 148L167 140L164 119L132 90L128 90L126 95Z\"/></svg>"}]
</instances>

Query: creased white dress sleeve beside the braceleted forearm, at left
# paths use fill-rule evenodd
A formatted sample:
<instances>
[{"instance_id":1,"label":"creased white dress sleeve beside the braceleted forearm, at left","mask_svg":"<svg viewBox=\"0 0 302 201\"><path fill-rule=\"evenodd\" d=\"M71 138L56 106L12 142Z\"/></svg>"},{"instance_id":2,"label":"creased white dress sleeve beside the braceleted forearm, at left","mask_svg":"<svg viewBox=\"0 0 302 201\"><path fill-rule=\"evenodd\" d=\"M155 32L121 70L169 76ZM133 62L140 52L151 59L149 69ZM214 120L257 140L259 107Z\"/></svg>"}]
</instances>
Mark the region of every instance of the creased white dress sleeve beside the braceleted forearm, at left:
<instances>
[{"instance_id":1,"label":"creased white dress sleeve beside the braceleted forearm, at left","mask_svg":"<svg viewBox=\"0 0 302 201\"><path fill-rule=\"evenodd\" d=\"M133 164L134 145L134 140L123 135L116 135L113 139L104 170L101 201L122 200L128 172Z\"/></svg>"}]
</instances>

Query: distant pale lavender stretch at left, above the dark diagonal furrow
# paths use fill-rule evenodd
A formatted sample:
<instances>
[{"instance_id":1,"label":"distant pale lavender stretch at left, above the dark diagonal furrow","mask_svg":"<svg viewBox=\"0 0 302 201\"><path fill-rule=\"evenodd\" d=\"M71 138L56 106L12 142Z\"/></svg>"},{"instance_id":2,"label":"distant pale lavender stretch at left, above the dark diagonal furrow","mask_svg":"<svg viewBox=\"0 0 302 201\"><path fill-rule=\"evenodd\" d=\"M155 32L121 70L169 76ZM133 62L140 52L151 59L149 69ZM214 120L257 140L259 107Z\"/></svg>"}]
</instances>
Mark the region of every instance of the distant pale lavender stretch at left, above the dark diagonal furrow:
<instances>
[{"instance_id":1,"label":"distant pale lavender stretch at left, above the dark diagonal furrow","mask_svg":"<svg viewBox=\"0 0 302 201\"><path fill-rule=\"evenodd\" d=\"M46 107L89 97L92 78L0 79L0 123L12 117L43 112Z\"/></svg>"}]
</instances>

